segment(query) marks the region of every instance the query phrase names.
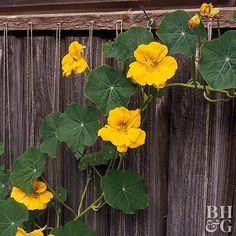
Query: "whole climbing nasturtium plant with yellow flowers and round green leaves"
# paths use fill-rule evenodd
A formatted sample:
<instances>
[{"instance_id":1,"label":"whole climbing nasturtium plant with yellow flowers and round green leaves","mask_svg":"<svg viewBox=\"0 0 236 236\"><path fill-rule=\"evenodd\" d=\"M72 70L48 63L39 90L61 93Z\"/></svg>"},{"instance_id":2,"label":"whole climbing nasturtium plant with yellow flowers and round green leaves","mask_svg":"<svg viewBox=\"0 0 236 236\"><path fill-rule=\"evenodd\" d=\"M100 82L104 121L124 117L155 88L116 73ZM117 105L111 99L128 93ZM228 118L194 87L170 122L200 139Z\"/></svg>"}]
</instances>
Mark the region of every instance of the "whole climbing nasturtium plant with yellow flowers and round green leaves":
<instances>
[{"instance_id":1,"label":"whole climbing nasturtium plant with yellow flowers and round green leaves","mask_svg":"<svg viewBox=\"0 0 236 236\"><path fill-rule=\"evenodd\" d=\"M150 29L129 28L103 45L105 56L117 60L118 68L102 65L91 70L86 45L71 42L62 58L62 75L69 79L72 73L86 73L83 93L90 105L75 101L48 114L39 130L39 148L25 151L10 170L0 166L0 236L43 236L49 231L48 236L95 236L95 230L82 223L88 212L98 212L105 204L125 214L146 208L145 180L127 170L126 160L133 149L145 145L147 135L152 137L145 130L151 102L165 96L170 87L195 89L209 102L236 97L236 31L221 36L218 28L218 38L211 40L212 25L220 24L219 17L219 8L204 3L193 16L182 10L168 13L156 29L158 39ZM179 69L176 53L188 56L191 75L186 83L173 80ZM223 96L213 99L212 94ZM54 190L43 174L46 157L61 158L64 144L86 177L78 185L84 186L82 191L73 186L73 191L82 192L79 203L73 204L77 208L71 207L69 192L62 186ZM0 144L0 155L3 152ZM87 191L98 181L100 195L86 205ZM48 208L55 211L55 226L37 225ZM71 221L61 220L62 210L70 212Z\"/></svg>"}]
</instances>

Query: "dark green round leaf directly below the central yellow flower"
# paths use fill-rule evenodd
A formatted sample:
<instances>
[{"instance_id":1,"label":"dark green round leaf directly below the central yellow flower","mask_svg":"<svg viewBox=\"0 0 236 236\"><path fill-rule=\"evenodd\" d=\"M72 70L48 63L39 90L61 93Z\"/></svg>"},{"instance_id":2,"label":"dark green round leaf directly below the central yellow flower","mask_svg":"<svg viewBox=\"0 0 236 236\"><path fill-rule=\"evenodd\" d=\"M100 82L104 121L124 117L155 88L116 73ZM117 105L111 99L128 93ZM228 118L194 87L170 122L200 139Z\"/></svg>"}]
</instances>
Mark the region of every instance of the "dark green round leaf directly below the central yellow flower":
<instances>
[{"instance_id":1,"label":"dark green round leaf directly below the central yellow flower","mask_svg":"<svg viewBox=\"0 0 236 236\"><path fill-rule=\"evenodd\" d=\"M102 177L101 187L106 202L126 214L134 214L148 205L144 180L133 170L109 170Z\"/></svg>"}]
</instances>

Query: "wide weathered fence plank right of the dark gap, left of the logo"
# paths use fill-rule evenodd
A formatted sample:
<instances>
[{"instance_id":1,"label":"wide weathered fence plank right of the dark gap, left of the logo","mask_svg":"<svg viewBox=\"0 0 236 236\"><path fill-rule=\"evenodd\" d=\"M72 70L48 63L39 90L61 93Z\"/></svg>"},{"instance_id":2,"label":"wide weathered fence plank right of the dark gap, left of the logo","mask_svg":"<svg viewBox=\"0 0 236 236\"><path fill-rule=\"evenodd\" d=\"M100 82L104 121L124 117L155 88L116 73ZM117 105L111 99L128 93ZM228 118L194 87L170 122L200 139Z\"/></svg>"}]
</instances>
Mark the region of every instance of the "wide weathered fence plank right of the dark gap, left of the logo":
<instances>
[{"instance_id":1,"label":"wide weathered fence plank right of the dark gap, left of the logo","mask_svg":"<svg viewBox=\"0 0 236 236\"><path fill-rule=\"evenodd\" d=\"M189 80L188 62L177 77ZM185 65L185 66L184 66ZM202 235L206 202L208 104L194 90L172 92L167 235Z\"/></svg>"}]
</instances>

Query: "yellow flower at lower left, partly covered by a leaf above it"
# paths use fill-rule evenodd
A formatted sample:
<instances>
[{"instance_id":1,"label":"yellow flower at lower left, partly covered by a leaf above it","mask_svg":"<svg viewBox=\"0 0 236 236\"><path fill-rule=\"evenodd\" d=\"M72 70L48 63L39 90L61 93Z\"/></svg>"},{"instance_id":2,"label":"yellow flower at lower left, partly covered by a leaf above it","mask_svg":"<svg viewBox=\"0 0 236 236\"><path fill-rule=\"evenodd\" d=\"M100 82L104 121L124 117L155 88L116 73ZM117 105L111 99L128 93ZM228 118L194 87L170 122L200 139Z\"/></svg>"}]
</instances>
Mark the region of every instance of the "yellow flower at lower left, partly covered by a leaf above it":
<instances>
[{"instance_id":1,"label":"yellow flower at lower left, partly covered by a leaf above it","mask_svg":"<svg viewBox=\"0 0 236 236\"><path fill-rule=\"evenodd\" d=\"M47 203L53 198L53 194L47 191L44 182L34 180L32 194L27 194L21 189L13 187L11 197L15 201L23 203L28 210L44 210L47 208Z\"/></svg>"}]
</instances>

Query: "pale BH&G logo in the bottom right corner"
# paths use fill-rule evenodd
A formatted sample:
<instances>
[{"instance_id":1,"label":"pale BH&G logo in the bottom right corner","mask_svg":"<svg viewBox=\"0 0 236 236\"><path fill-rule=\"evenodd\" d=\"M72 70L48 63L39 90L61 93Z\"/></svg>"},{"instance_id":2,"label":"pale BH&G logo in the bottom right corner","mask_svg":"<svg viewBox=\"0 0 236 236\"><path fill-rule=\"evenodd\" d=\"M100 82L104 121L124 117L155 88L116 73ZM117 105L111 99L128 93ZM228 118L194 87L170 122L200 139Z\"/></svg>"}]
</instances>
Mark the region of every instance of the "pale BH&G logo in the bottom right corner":
<instances>
[{"instance_id":1,"label":"pale BH&G logo in the bottom right corner","mask_svg":"<svg viewBox=\"0 0 236 236\"><path fill-rule=\"evenodd\" d=\"M232 232L232 206L207 206L206 231Z\"/></svg>"}]
</instances>

